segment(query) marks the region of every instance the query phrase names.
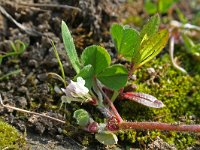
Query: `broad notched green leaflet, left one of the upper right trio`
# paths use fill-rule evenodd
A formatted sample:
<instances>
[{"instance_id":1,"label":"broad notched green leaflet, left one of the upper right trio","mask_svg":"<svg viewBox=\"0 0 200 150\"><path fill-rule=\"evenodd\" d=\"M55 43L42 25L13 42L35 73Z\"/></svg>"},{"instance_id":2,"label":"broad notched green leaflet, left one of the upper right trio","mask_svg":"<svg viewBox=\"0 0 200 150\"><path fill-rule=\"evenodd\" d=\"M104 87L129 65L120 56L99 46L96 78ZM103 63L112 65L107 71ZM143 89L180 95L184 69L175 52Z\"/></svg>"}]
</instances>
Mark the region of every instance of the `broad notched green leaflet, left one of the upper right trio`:
<instances>
[{"instance_id":1,"label":"broad notched green leaflet, left one of the upper right trio","mask_svg":"<svg viewBox=\"0 0 200 150\"><path fill-rule=\"evenodd\" d=\"M119 24L113 24L110 32L117 52L125 58L131 58L133 52L140 45L139 33L134 29L127 28L126 26L122 27Z\"/></svg>"}]
</instances>

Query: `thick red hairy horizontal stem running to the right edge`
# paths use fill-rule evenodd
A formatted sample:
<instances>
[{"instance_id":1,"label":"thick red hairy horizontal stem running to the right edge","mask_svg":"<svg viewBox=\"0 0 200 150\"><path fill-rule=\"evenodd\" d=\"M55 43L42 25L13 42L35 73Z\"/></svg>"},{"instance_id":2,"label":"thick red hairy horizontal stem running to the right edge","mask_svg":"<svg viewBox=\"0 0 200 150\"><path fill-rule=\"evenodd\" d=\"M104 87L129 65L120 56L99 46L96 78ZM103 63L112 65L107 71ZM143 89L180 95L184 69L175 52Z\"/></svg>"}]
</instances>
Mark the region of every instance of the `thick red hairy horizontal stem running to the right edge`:
<instances>
[{"instance_id":1,"label":"thick red hairy horizontal stem running to the right edge","mask_svg":"<svg viewBox=\"0 0 200 150\"><path fill-rule=\"evenodd\" d=\"M200 132L200 125L173 125L159 122L122 122L119 128Z\"/></svg>"}]
</instances>

